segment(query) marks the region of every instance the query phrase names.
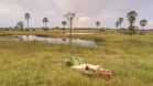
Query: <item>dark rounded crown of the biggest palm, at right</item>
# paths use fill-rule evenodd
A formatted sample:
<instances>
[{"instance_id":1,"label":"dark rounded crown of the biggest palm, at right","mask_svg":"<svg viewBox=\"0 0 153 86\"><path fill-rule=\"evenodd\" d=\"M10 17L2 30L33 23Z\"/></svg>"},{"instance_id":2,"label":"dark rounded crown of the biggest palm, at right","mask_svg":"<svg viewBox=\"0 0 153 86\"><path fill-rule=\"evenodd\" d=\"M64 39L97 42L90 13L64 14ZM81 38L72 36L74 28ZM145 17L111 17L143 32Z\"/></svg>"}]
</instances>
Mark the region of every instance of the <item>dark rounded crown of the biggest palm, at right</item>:
<instances>
[{"instance_id":1,"label":"dark rounded crown of the biggest palm, at right","mask_svg":"<svg viewBox=\"0 0 153 86\"><path fill-rule=\"evenodd\" d=\"M130 26L133 26L135 20L136 20L138 13L135 11L130 11L127 15L128 21L130 22Z\"/></svg>"}]
</instances>

